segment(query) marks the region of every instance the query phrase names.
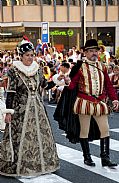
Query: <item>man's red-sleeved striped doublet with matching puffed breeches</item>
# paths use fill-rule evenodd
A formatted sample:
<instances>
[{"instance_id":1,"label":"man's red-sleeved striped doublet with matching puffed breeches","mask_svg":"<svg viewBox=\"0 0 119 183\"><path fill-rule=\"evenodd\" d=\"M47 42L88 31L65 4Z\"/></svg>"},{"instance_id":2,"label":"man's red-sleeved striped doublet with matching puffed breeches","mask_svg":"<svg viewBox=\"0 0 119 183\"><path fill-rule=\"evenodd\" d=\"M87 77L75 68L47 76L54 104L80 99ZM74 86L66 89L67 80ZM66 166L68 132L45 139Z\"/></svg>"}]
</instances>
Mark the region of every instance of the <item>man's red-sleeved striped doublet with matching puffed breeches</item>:
<instances>
[{"instance_id":1,"label":"man's red-sleeved striped doublet with matching puffed breeches","mask_svg":"<svg viewBox=\"0 0 119 183\"><path fill-rule=\"evenodd\" d=\"M86 61L72 78L69 89L78 85L77 99L74 112L87 115L108 114L104 102L108 96L112 101L117 100L115 89L109 79L106 67L99 63Z\"/></svg>"}]
</instances>

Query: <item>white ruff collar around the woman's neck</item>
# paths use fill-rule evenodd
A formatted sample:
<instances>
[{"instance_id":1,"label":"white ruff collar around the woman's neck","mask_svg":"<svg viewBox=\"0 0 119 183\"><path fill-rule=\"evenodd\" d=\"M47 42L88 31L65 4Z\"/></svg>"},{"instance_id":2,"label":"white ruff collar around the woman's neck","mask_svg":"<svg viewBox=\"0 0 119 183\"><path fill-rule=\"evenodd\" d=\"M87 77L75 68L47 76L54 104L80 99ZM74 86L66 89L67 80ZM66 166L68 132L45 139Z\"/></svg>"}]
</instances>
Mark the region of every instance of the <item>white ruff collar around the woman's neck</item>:
<instances>
[{"instance_id":1,"label":"white ruff collar around the woman's neck","mask_svg":"<svg viewBox=\"0 0 119 183\"><path fill-rule=\"evenodd\" d=\"M34 76L39 69L39 65L33 61L30 66L24 65L21 61L14 61L13 66L23 72L26 76Z\"/></svg>"}]
</instances>

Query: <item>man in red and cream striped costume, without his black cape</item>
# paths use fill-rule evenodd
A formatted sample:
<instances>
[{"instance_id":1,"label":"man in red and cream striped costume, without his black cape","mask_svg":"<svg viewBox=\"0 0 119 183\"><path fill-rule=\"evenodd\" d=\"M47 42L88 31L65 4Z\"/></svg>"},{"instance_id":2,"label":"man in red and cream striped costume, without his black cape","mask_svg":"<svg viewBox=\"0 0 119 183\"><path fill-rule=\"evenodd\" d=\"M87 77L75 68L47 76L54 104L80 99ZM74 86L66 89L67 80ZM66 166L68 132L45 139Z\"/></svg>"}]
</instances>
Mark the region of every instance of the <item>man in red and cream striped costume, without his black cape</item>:
<instances>
[{"instance_id":1,"label":"man in red and cream striped costume, without his black cape","mask_svg":"<svg viewBox=\"0 0 119 183\"><path fill-rule=\"evenodd\" d=\"M111 162L109 157L109 108L106 104L107 96L112 100L113 109L118 109L118 99L110 82L107 69L98 61L99 47L95 39L86 41L85 55L78 72L71 79L69 89L78 86L77 99L74 104L74 112L78 114L80 121L80 143L83 150L84 163L95 166L88 142L91 116L97 122L100 130L100 157L102 166L113 167L116 163Z\"/></svg>"}]
</instances>

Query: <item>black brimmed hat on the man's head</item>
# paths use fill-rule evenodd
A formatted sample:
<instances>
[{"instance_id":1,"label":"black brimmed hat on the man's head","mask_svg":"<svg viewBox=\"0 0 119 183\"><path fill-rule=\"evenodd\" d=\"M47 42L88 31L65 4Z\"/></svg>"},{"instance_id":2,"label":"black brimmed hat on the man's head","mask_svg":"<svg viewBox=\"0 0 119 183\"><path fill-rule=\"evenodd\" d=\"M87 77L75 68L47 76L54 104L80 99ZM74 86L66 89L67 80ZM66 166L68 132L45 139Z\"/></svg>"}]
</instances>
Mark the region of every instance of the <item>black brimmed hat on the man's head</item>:
<instances>
[{"instance_id":1,"label":"black brimmed hat on the man's head","mask_svg":"<svg viewBox=\"0 0 119 183\"><path fill-rule=\"evenodd\" d=\"M84 49L88 50L88 49L93 49L96 48L97 50L99 50L100 48L98 47L98 43L95 39L89 39L86 41Z\"/></svg>"}]
</instances>

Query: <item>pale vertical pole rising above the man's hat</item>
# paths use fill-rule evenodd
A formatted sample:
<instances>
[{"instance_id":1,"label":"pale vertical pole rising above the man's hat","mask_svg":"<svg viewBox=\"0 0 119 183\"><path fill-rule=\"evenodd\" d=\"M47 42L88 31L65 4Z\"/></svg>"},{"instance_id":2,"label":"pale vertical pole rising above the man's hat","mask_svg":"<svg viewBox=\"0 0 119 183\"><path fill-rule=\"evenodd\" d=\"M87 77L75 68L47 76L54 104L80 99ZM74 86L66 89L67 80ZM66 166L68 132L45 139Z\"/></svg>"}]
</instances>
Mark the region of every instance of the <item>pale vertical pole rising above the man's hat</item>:
<instances>
[{"instance_id":1,"label":"pale vertical pole rising above the man's hat","mask_svg":"<svg viewBox=\"0 0 119 183\"><path fill-rule=\"evenodd\" d=\"M81 46L86 42L86 0L81 0Z\"/></svg>"}]
</instances>

